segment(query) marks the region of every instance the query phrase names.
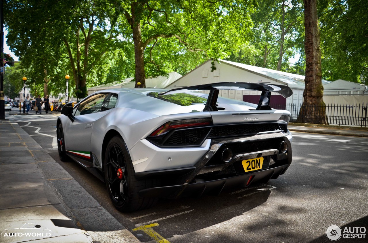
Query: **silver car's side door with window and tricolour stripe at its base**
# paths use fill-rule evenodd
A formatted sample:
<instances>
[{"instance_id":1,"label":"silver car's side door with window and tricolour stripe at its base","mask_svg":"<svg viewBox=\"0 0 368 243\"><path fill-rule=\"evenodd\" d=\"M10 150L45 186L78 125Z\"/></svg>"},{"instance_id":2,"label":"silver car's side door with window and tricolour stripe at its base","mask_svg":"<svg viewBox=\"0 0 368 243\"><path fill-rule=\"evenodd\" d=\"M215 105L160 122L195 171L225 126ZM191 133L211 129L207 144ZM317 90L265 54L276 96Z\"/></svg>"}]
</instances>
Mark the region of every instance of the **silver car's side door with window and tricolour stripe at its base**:
<instances>
[{"instance_id":1,"label":"silver car's side door with window and tricolour stripe at its base","mask_svg":"<svg viewBox=\"0 0 368 243\"><path fill-rule=\"evenodd\" d=\"M65 127L68 155L86 167L92 166L90 145L93 123L106 114L102 111L106 110L104 101L107 97L110 94L100 93L82 101L75 108L74 121L67 123Z\"/></svg>"}]
</instances>

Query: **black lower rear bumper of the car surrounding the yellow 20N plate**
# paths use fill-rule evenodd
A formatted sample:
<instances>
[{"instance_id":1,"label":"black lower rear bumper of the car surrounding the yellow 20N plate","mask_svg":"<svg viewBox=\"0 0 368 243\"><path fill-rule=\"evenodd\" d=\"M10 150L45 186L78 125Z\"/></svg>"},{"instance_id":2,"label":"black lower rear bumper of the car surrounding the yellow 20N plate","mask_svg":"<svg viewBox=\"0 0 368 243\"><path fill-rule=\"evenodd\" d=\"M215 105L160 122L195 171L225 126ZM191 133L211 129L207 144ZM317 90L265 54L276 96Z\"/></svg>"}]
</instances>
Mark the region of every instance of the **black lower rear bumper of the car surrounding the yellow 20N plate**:
<instances>
[{"instance_id":1,"label":"black lower rear bumper of the car surrounding the yellow 20N plate","mask_svg":"<svg viewBox=\"0 0 368 243\"><path fill-rule=\"evenodd\" d=\"M284 153L276 148L280 141L285 141L288 145L288 149ZM233 151L237 149L238 151L228 163L221 163L219 157L224 148L231 148ZM218 153L216 153L217 151ZM139 195L142 197L170 196L173 198L188 195L201 196L204 193L217 195L226 188L246 187L252 182L260 180L266 182L285 173L291 164L291 151L291 143L282 133L261 134L246 138L213 139L208 152L194 166L135 173L138 178L166 178L165 186L142 189ZM244 159L256 157L272 158L275 163L258 171L249 173L243 171L243 174L241 171L236 172L231 168L233 165L235 166L235 163ZM251 178L251 176L253 177Z\"/></svg>"}]
</instances>

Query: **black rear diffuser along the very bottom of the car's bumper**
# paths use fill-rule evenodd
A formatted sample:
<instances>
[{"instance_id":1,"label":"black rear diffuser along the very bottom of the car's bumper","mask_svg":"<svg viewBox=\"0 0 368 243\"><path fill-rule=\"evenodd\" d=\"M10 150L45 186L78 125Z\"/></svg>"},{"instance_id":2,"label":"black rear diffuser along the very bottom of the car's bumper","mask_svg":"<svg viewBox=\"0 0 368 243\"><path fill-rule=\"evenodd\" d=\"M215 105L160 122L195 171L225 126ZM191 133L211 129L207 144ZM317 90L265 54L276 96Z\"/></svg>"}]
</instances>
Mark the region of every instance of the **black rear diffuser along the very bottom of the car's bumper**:
<instances>
[{"instance_id":1,"label":"black rear diffuser along the very bottom of the car's bumper","mask_svg":"<svg viewBox=\"0 0 368 243\"><path fill-rule=\"evenodd\" d=\"M203 194L218 195L224 189L236 187L244 188L260 180L268 181L269 179L276 179L277 177L279 177L279 175L283 174L287 170L287 167L289 167L289 164L284 164L283 166L256 171L254 173L237 175L229 178L187 184L185 186L185 189L182 190L180 193L177 192L180 191L183 185L143 189L139 192L139 195L142 197L169 197L175 195L174 197L176 198L185 196L201 196ZM250 183L248 183L248 180L251 176L253 177Z\"/></svg>"}]
</instances>

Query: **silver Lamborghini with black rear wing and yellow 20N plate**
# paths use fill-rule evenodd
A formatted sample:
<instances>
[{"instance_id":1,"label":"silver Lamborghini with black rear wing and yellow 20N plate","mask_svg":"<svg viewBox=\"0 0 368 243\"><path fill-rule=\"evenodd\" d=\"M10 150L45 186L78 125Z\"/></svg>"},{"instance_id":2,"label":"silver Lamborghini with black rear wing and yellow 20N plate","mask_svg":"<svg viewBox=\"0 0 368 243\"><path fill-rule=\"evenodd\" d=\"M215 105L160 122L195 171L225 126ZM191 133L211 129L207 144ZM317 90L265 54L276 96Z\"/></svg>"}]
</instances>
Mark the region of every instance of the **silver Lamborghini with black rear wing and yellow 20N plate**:
<instances>
[{"instance_id":1,"label":"silver Lamborghini with black rear wing and yellow 20N plate","mask_svg":"<svg viewBox=\"0 0 368 243\"><path fill-rule=\"evenodd\" d=\"M261 95L251 104L219 97L219 90ZM63 107L59 156L104 180L121 211L266 183L291 163L290 112L270 107L271 92L292 94L287 86L237 82L99 91Z\"/></svg>"}]
</instances>

